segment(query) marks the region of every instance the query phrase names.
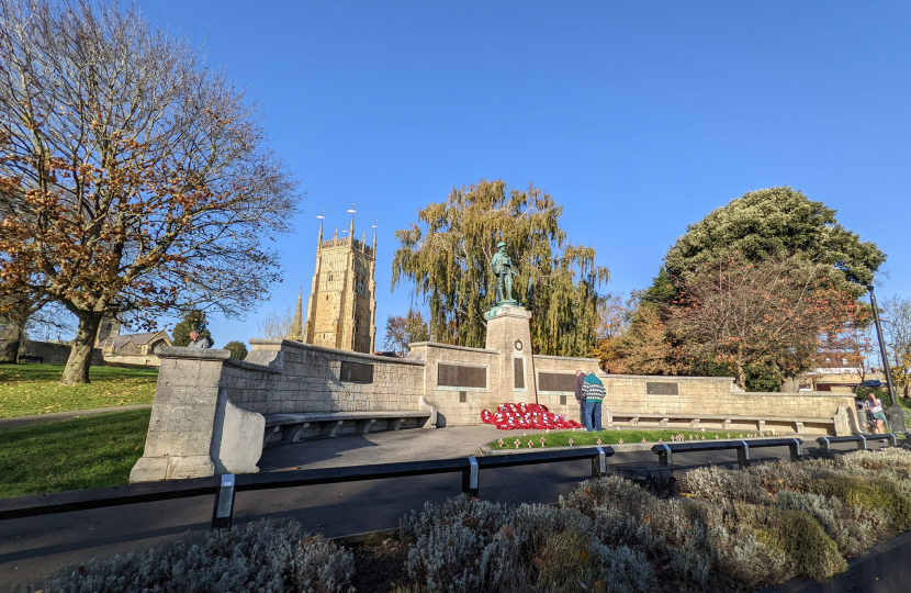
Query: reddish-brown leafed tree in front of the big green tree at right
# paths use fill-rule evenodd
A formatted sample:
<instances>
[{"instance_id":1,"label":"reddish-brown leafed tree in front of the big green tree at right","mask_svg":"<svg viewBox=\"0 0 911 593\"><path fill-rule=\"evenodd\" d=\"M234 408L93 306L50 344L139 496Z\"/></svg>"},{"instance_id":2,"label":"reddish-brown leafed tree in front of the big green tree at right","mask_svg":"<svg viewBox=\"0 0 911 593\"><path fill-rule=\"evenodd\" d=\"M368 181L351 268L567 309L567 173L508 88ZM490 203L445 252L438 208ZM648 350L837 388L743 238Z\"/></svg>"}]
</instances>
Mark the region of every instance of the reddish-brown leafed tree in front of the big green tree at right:
<instances>
[{"instance_id":1,"label":"reddish-brown leafed tree in front of the big green tree at right","mask_svg":"<svg viewBox=\"0 0 911 593\"><path fill-rule=\"evenodd\" d=\"M845 329L869 323L830 273L799 256L751 262L734 254L679 283L668 325L697 367L727 367L739 387L775 391L814 366L822 340L842 351Z\"/></svg>"}]
</instances>

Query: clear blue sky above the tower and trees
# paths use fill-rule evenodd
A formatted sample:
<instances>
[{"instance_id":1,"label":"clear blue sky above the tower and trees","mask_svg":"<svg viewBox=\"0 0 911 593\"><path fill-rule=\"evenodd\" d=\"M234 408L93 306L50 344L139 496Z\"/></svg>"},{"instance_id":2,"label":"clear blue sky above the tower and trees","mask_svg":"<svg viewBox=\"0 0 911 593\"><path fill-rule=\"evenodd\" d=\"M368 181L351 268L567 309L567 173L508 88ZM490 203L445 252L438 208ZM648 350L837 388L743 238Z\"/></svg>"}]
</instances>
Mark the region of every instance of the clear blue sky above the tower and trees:
<instances>
[{"instance_id":1,"label":"clear blue sky above the tower and trees","mask_svg":"<svg viewBox=\"0 0 911 593\"><path fill-rule=\"evenodd\" d=\"M285 281L216 345L306 298L320 210L380 221L378 347L394 232L453 186L529 181L597 250L610 292L645 287L686 225L790 184L889 256L911 295L911 3L144 0L157 26L209 43L262 105L307 195L281 237Z\"/></svg>"}]
</instances>

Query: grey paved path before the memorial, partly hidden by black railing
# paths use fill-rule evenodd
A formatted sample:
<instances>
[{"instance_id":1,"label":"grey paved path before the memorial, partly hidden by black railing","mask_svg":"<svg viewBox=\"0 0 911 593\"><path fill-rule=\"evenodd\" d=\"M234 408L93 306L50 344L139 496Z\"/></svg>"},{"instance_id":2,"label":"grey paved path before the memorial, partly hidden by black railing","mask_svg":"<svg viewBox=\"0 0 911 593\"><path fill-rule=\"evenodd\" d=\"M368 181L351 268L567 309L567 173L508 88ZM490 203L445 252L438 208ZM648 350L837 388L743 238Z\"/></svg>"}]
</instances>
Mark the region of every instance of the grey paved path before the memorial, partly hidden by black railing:
<instances>
[{"instance_id":1,"label":"grey paved path before the memorial, partly hidden by black railing","mask_svg":"<svg viewBox=\"0 0 911 593\"><path fill-rule=\"evenodd\" d=\"M529 433L531 433L529 430ZM495 438L491 426L378 433L268 448L263 470L350 466L476 455ZM784 458L786 448L755 451L758 459ZM609 462L651 461L651 452L625 452ZM681 456L686 463L736 462L734 451ZM589 477L588 461L504 468L481 473L481 495L506 503L551 503ZM395 527L402 515L425 502L461 491L461 475L441 474L344 484L288 488L237 494L235 521L296 518L327 536ZM204 536L212 496L144 503L0 522L0 591L53 573L61 564L143 550Z\"/></svg>"}]
</instances>

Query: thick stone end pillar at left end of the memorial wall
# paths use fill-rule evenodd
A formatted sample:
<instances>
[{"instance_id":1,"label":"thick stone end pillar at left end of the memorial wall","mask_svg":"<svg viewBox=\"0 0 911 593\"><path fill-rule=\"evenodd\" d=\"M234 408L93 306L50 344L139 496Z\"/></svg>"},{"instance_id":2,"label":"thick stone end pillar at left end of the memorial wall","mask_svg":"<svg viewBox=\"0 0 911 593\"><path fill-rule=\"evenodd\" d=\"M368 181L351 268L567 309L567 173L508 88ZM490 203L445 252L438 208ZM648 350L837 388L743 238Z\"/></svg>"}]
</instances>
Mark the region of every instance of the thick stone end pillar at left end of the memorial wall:
<instances>
[{"instance_id":1,"label":"thick stone end pillar at left end of the memorial wall","mask_svg":"<svg viewBox=\"0 0 911 593\"><path fill-rule=\"evenodd\" d=\"M143 457L130 482L215 474L210 455L218 406L218 382L228 350L161 346L158 385Z\"/></svg>"}]
</instances>

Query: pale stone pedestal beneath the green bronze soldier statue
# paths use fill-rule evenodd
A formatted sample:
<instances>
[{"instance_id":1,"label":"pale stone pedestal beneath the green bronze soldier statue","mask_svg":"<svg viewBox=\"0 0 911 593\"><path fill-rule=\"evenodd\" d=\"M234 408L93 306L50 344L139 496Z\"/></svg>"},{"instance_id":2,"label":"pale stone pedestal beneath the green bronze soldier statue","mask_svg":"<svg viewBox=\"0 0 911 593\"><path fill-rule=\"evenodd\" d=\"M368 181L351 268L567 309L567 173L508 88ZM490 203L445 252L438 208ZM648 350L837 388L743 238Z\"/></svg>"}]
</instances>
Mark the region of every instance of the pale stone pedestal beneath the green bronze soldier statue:
<instances>
[{"instance_id":1,"label":"pale stone pedestal beneath the green bronze soldier statue","mask_svg":"<svg viewBox=\"0 0 911 593\"><path fill-rule=\"evenodd\" d=\"M497 401L535 403L537 384L531 356L531 313L524 306L503 303L484 313L484 317L487 320L485 348L499 353L497 362L491 369L499 378ZM521 365L520 373L517 365ZM524 387L517 385L518 379L524 380Z\"/></svg>"}]
</instances>

